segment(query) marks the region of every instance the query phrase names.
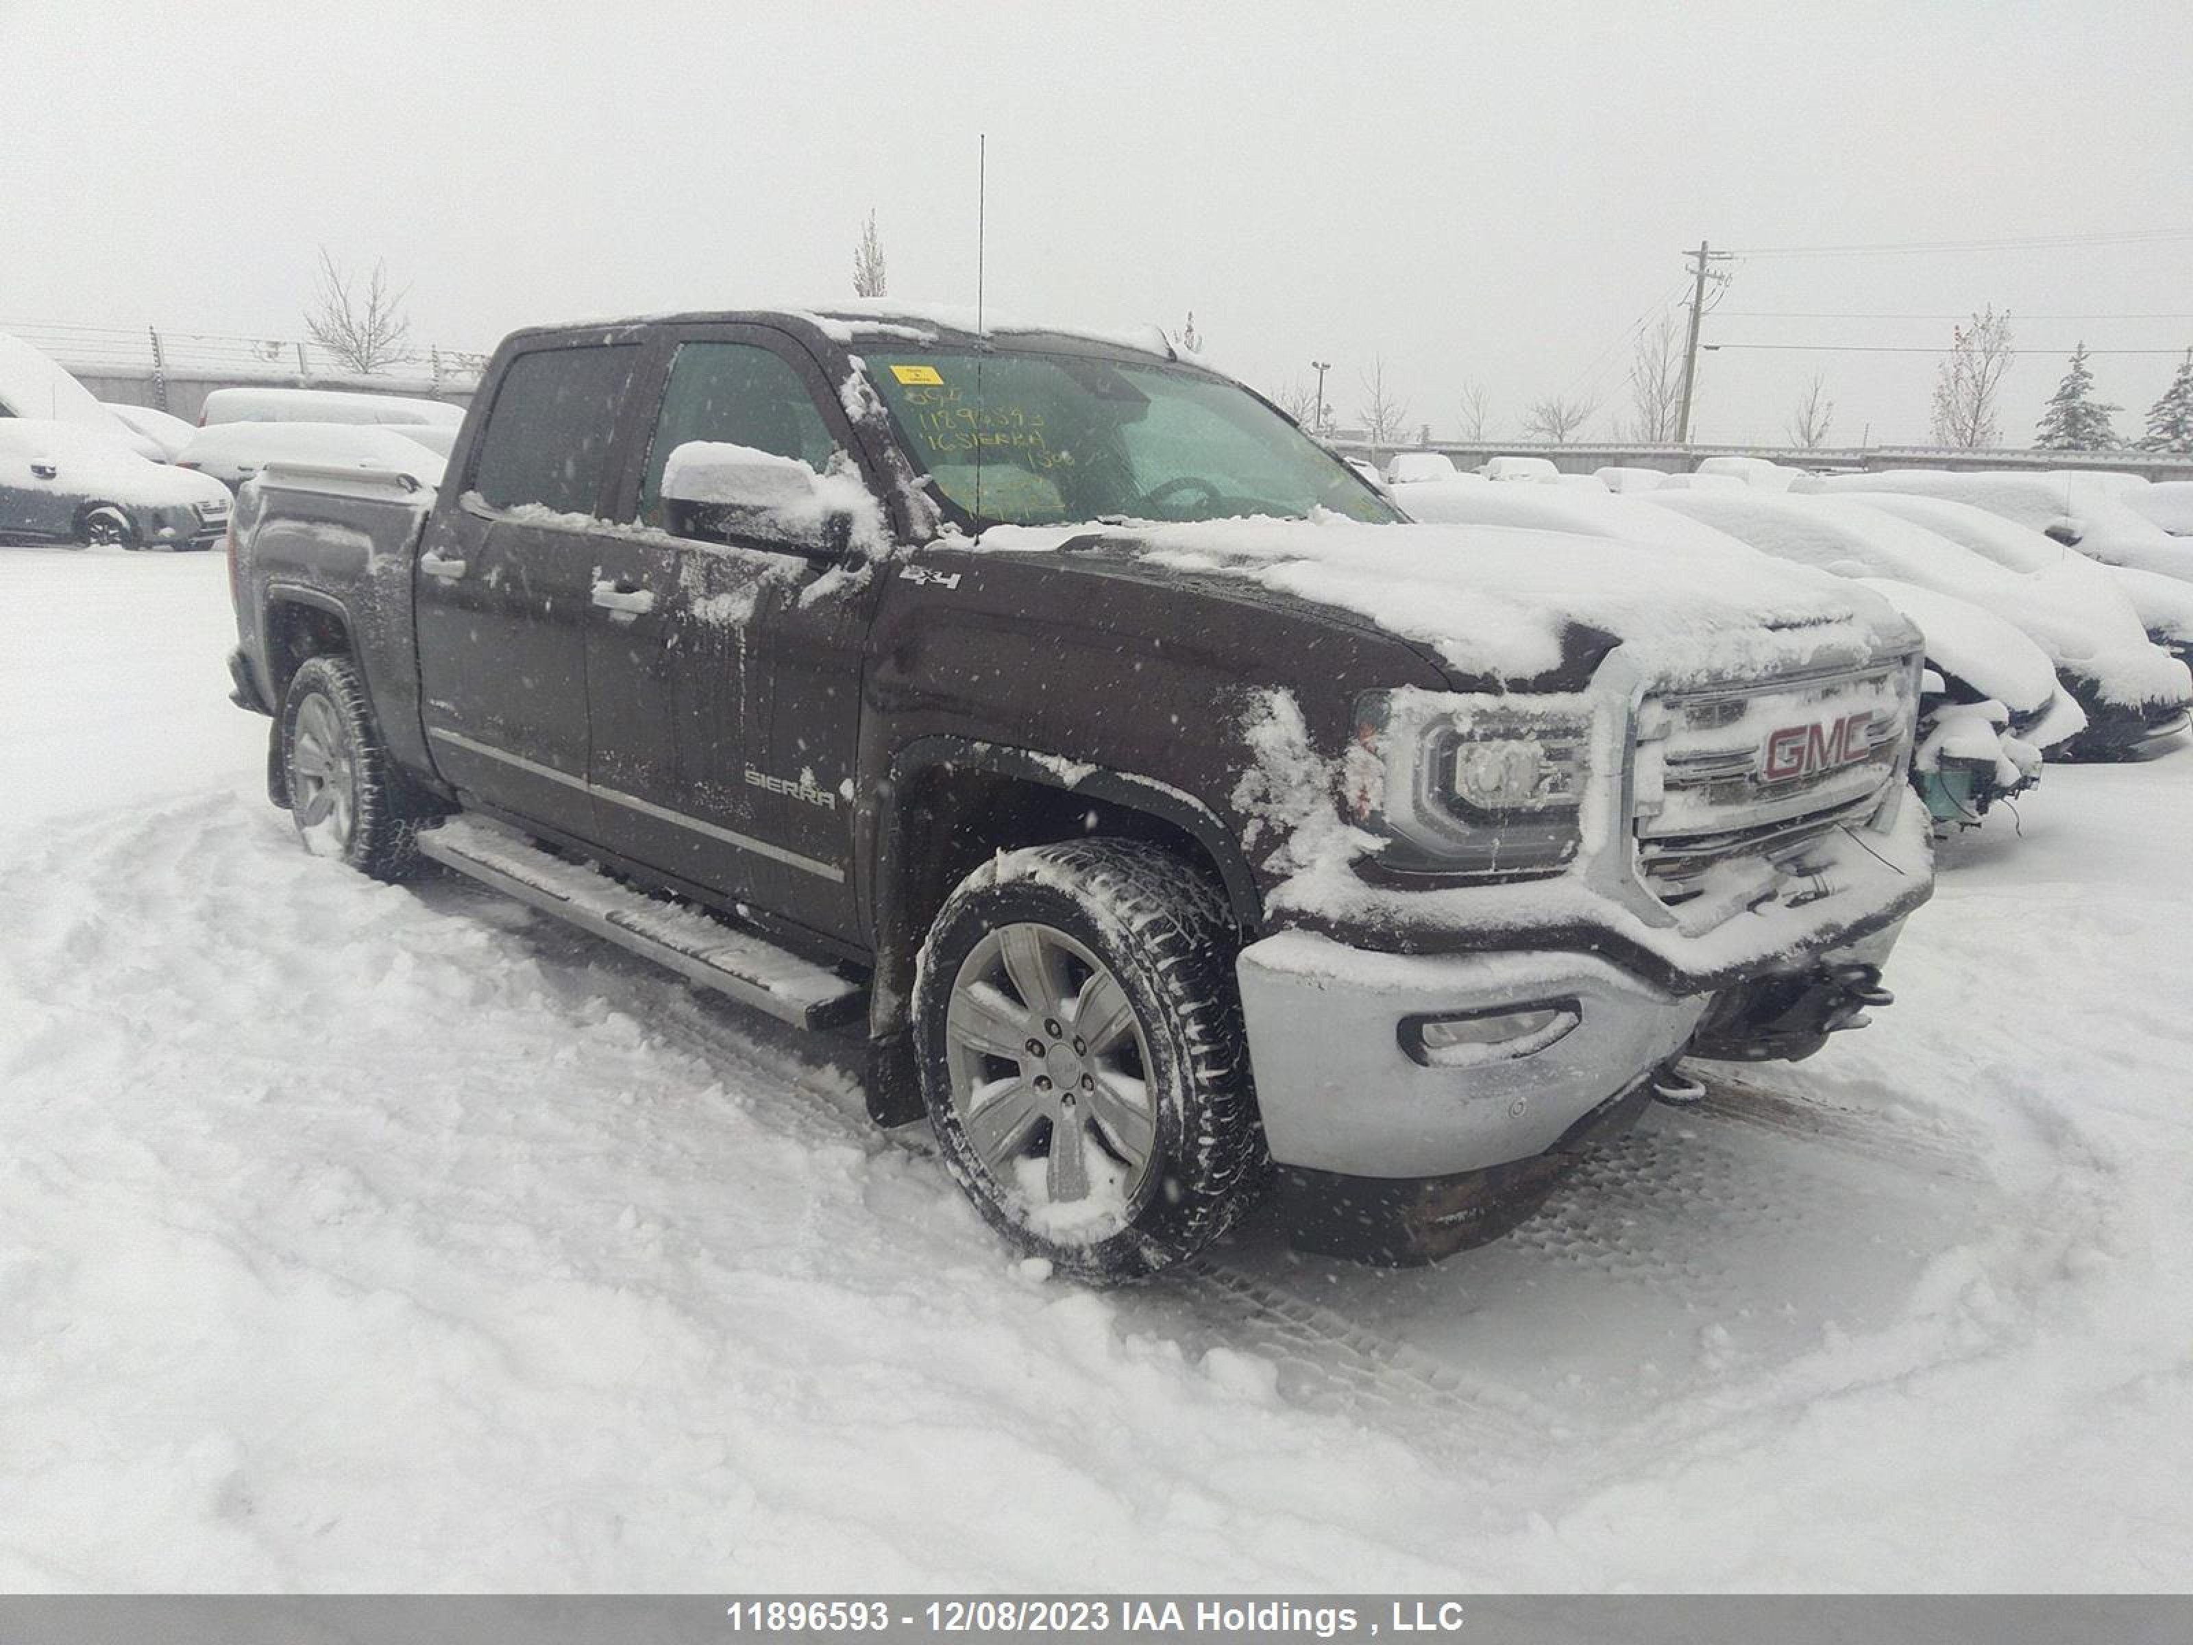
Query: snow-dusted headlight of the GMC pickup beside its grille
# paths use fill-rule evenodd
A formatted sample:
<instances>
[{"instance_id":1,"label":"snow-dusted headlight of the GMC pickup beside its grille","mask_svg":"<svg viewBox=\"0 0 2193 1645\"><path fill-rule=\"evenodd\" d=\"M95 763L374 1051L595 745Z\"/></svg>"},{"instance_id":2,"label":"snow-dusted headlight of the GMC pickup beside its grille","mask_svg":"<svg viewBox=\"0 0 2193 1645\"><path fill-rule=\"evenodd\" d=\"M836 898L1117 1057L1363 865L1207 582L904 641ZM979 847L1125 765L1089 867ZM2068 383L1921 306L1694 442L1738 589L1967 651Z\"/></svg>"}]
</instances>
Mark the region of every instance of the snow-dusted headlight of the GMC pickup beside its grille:
<instances>
[{"instance_id":1,"label":"snow-dusted headlight of the GMC pickup beside its grille","mask_svg":"<svg viewBox=\"0 0 2193 1645\"><path fill-rule=\"evenodd\" d=\"M1373 691L1355 702L1355 820L1401 873L1559 873L1583 842L1590 713L1575 700Z\"/></svg>"}]
</instances>

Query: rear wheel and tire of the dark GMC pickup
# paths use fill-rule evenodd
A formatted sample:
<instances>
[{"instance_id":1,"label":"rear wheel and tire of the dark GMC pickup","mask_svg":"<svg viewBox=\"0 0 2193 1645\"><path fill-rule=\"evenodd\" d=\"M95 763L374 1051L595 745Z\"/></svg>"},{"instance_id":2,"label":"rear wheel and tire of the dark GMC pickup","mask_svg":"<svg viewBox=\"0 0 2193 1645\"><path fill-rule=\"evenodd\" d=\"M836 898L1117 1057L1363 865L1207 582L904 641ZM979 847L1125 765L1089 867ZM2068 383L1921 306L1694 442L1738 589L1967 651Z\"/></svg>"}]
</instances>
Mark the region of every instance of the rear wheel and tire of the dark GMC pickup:
<instances>
[{"instance_id":1,"label":"rear wheel and tire of the dark GMC pickup","mask_svg":"<svg viewBox=\"0 0 2193 1645\"><path fill-rule=\"evenodd\" d=\"M419 818L351 658L325 654L298 667L281 706L281 757L289 818L307 851L375 880L404 880L419 866Z\"/></svg>"}]
</instances>

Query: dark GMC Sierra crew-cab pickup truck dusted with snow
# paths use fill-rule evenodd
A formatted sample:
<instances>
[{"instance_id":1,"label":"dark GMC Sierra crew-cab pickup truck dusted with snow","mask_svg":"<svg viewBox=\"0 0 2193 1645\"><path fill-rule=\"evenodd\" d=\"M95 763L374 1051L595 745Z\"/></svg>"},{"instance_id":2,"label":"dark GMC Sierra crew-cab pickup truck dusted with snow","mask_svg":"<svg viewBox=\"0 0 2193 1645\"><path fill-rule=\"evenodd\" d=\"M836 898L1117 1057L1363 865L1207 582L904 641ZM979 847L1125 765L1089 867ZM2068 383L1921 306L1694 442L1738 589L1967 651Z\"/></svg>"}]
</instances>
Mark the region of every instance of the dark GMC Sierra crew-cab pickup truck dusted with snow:
<instances>
[{"instance_id":1,"label":"dark GMC Sierra crew-cab pickup truck dusted with snow","mask_svg":"<svg viewBox=\"0 0 2193 1645\"><path fill-rule=\"evenodd\" d=\"M1873 594L1404 524L1156 333L522 331L439 489L272 465L232 577L309 849L864 1020L1081 1274L1274 1178L1314 1248L1489 1237L1686 1053L1884 1005L1932 884Z\"/></svg>"}]
</instances>

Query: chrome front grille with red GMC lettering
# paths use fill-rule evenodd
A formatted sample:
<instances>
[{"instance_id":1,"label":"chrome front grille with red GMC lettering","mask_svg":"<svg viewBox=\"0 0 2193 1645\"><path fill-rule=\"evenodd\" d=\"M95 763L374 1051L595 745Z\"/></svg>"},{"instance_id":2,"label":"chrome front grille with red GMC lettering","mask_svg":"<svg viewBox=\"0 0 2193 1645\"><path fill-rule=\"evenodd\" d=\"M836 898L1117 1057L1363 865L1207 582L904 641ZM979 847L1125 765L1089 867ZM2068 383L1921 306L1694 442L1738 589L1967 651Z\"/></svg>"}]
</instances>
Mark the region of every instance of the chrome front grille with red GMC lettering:
<instances>
[{"instance_id":1,"label":"chrome front grille with red GMC lettering","mask_svg":"<svg viewBox=\"0 0 2193 1645\"><path fill-rule=\"evenodd\" d=\"M1910 662L1890 660L1647 697L1634 816L1645 884L1675 906L1732 858L1800 869L1901 776L1912 691Z\"/></svg>"}]
</instances>

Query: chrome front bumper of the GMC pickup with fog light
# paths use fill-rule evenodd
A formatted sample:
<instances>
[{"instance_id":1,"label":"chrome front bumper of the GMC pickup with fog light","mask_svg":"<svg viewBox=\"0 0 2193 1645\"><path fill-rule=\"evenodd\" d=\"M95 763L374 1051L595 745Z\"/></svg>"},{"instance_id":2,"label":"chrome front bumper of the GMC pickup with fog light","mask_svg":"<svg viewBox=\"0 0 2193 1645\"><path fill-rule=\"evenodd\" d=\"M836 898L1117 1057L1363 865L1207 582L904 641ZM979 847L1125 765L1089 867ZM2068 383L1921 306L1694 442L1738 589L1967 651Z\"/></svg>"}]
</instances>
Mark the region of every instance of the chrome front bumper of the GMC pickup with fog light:
<instances>
[{"instance_id":1,"label":"chrome front bumper of the GMC pickup with fog light","mask_svg":"<svg viewBox=\"0 0 2193 1645\"><path fill-rule=\"evenodd\" d=\"M1268 937L1237 963L1265 1143L1279 1165L1349 1178L1533 1158L1680 1055L1708 1011L1724 1042L1741 1042L1746 989L1877 967L1901 923L1722 994L1669 994L1583 952L1382 954L1303 930ZM1469 1046L1461 1062L1410 1048L1414 1020L1546 1009L1572 1026ZM1789 1046L1763 1055L1805 1055Z\"/></svg>"}]
</instances>

